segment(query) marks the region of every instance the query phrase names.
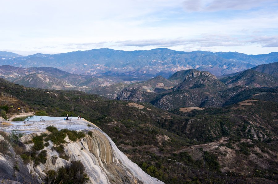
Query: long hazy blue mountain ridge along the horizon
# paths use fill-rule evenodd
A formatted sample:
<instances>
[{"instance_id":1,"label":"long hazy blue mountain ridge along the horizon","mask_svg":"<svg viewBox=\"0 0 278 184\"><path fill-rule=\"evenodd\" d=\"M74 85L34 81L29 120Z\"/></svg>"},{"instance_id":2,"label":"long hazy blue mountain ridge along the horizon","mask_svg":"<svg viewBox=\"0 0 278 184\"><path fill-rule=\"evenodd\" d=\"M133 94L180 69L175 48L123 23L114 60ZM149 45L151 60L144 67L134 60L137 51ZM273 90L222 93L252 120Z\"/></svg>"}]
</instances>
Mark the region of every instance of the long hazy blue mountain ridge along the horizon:
<instances>
[{"instance_id":1,"label":"long hazy blue mountain ridge along the horizon","mask_svg":"<svg viewBox=\"0 0 278 184\"><path fill-rule=\"evenodd\" d=\"M55 67L76 74L168 77L179 70L197 69L214 75L230 74L278 61L278 52L247 55L237 52L183 52L165 48L122 51L93 49L61 54L34 54L5 59L2 65Z\"/></svg>"}]
</instances>

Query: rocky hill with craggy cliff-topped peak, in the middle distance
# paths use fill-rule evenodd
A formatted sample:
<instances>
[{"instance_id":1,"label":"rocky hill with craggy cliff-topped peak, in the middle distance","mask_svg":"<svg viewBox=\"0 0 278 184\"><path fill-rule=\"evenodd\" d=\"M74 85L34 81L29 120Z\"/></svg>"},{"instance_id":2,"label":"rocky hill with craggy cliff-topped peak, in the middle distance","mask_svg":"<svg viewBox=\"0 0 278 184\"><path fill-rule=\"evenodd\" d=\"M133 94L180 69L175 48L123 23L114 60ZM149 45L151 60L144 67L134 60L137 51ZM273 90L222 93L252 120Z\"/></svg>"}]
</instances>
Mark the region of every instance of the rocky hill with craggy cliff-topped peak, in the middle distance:
<instances>
[{"instance_id":1,"label":"rocky hill with craggy cliff-topped peak, in the middle distance","mask_svg":"<svg viewBox=\"0 0 278 184\"><path fill-rule=\"evenodd\" d=\"M170 87L168 87L168 90L166 88L164 90L151 91L148 89L154 89L154 85L151 86L149 84L150 81L155 81L155 84L166 83ZM225 84L209 72L190 69L178 71L168 80L160 77L130 85L121 91L117 99L150 102L158 108L169 110L180 107L200 106L205 104L209 97L215 96L214 93L225 89ZM210 103L210 106L218 105Z\"/></svg>"}]
</instances>

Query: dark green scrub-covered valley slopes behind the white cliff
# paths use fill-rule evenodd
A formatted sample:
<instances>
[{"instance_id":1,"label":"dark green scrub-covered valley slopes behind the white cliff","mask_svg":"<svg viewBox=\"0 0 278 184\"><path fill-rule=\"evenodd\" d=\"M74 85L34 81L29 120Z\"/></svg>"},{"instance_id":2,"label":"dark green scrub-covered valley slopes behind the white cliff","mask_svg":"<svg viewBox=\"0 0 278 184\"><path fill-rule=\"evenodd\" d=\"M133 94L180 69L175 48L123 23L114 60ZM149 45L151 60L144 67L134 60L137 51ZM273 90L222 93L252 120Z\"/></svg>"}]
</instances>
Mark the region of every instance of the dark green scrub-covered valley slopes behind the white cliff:
<instances>
[{"instance_id":1,"label":"dark green scrub-covered valley slopes behind the white cliff","mask_svg":"<svg viewBox=\"0 0 278 184\"><path fill-rule=\"evenodd\" d=\"M274 183L278 179L278 93L251 89L239 90L226 106L189 112L108 100L81 91L28 88L4 79L0 92L6 113L21 104L36 115L81 114L132 162L165 183L224 182L224 177L230 182ZM242 102L246 98L252 100Z\"/></svg>"}]
</instances>

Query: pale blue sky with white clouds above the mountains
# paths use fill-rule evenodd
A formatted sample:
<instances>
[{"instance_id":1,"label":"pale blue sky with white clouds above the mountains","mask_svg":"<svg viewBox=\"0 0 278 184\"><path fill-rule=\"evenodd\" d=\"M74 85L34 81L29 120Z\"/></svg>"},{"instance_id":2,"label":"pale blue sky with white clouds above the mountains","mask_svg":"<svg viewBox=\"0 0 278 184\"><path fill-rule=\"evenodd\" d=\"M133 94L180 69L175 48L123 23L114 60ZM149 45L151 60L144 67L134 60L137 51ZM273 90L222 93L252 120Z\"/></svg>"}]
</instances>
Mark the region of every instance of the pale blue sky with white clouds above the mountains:
<instances>
[{"instance_id":1,"label":"pale blue sky with white clouds above the mountains","mask_svg":"<svg viewBox=\"0 0 278 184\"><path fill-rule=\"evenodd\" d=\"M0 0L1 51L161 47L277 52L278 0Z\"/></svg>"}]
</instances>

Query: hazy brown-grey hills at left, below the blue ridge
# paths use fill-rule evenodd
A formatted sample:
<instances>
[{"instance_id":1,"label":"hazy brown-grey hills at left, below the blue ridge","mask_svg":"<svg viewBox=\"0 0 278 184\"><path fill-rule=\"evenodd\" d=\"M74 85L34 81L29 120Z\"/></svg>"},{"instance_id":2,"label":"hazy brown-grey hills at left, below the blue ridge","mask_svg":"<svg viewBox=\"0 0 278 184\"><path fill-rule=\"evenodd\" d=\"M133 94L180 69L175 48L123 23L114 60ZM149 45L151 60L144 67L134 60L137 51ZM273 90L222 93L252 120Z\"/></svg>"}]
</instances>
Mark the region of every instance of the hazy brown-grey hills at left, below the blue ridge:
<instances>
[{"instance_id":1,"label":"hazy brown-grey hills at left, below the blue ridge","mask_svg":"<svg viewBox=\"0 0 278 184\"><path fill-rule=\"evenodd\" d=\"M137 82L137 78L92 76L90 74L70 74L51 67L21 68L9 65L0 66L0 77L26 87L56 90L89 91L99 86L109 86L118 82Z\"/></svg>"}]
</instances>

